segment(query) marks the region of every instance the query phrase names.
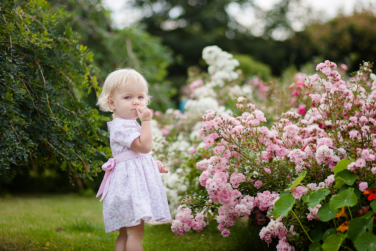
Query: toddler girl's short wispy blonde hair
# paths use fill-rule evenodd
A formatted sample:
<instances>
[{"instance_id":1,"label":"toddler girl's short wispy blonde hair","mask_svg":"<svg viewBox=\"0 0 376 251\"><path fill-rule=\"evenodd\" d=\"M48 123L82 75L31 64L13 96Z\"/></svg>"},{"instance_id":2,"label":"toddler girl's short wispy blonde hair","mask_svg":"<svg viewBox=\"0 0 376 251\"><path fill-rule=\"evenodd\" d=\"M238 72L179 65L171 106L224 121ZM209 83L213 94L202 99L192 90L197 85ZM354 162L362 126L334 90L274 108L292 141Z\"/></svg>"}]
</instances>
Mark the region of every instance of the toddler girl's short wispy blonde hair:
<instances>
[{"instance_id":1,"label":"toddler girl's short wispy blonde hair","mask_svg":"<svg viewBox=\"0 0 376 251\"><path fill-rule=\"evenodd\" d=\"M111 95L115 89L129 86L134 83L142 84L145 87L145 101L146 105L150 102L149 84L144 76L138 71L131 68L117 69L107 75L106 80L103 83L102 93L98 97L97 105L102 111L112 112L113 110L108 105Z\"/></svg>"}]
</instances>

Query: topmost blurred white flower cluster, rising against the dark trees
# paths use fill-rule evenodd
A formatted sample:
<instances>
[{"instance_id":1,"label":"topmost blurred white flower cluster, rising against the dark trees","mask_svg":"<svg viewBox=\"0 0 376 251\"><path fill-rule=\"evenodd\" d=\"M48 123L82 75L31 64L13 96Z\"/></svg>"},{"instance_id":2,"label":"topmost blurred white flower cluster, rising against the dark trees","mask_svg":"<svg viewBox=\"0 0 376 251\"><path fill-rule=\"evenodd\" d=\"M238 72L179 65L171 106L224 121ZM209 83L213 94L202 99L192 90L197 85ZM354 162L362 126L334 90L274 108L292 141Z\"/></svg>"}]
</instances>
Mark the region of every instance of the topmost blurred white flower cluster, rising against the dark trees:
<instances>
[{"instance_id":1,"label":"topmost blurred white flower cluster, rising against the dark trees","mask_svg":"<svg viewBox=\"0 0 376 251\"><path fill-rule=\"evenodd\" d=\"M225 80L237 79L239 74L234 71L239 66L239 61L233 55L222 51L216 45L207 46L203 50L203 59L209 65L208 72L211 75L211 85L223 87Z\"/></svg>"}]
</instances>

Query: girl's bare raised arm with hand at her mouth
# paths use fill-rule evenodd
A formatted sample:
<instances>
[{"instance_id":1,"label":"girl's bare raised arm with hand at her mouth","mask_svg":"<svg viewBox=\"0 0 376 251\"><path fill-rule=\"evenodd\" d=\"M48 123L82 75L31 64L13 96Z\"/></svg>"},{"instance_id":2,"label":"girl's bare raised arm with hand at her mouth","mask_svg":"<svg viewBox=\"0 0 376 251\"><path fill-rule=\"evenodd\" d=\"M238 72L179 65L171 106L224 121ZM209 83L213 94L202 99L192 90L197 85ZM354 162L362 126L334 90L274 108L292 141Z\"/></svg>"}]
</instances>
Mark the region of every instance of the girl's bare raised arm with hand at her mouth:
<instances>
[{"instance_id":1,"label":"girl's bare raised arm with hand at her mouth","mask_svg":"<svg viewBox=\"0 0 376 251\"><path fill-rule=\"evenodd\" d=\"M141 135L132 142L130 149L142 154L147 154L151 151L153 144L151 111L146 106L137 107L136 111L141 120Z\"/></svg>"}]
</instances>

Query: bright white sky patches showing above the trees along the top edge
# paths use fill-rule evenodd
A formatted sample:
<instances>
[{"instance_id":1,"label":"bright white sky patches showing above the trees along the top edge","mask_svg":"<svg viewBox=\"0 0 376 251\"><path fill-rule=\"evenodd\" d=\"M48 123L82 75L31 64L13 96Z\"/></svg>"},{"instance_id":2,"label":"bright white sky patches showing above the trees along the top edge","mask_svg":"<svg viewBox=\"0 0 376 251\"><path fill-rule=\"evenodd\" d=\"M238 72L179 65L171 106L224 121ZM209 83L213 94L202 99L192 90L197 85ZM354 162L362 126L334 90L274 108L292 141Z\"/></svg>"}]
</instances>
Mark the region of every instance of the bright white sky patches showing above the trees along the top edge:
<instances>
[{"instance_id":1,"label":"bright white sky patches showing above the trees along the top edge","mask_svg":"<svg viewBox=\"0 0 376 251\"><path fill-rule=\"evenodd\" d=\"M259 7L264 11L271 10L271 8L280 2L280 0L253 0ZM373 7L376 7L376 0L301 0L304 5L311 6L312 10L317 12L323 12L326 20L328 21L333 19L338 13L343 13L345 15L351 15L355 8L362 5L372 4ZM102 0L103 5L106 9L112 11L112 19L114 26L117 28L128 27L132 22L139 20L142 17L140 11L131 10L127 0ZM233 11L234 15L241 16L237 12L242 12L244 18L241 18L247 23L250 15L245 14L244 10L237 10L234 5ZM244 15L245 14L245 15ZM251 15L252 16L252 15ZM299 28L297 28L299 30Z\"/></svg>"}]
</instances>

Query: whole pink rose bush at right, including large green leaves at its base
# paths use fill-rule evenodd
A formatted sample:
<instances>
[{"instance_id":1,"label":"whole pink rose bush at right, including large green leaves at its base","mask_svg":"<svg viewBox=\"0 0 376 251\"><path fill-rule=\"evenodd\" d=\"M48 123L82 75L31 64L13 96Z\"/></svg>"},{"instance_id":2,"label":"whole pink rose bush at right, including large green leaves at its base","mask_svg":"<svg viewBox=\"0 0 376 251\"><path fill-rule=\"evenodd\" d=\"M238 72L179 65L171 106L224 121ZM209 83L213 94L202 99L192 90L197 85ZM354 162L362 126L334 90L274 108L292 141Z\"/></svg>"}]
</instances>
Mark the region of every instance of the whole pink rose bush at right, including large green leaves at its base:
<instances>
[{"instance_id":1,"label":"whole pink rose bush at right, including large green leaves at its base","mask_svg":"<svg viewBox=\"0 0 376 251\"><path fill-rule=\"evenodd\" d=\"M345 81L335 63L319 63L317 73L294 79L292 108L273 121L246 95L234 98L238 112L202 113L196 170L204 191L183 198L172 231L215 220L226 237L239 217L249 217L277 250L376 245L376 203L363 195L376 187L371 66Z\"/></svg>"}]
</instances>

